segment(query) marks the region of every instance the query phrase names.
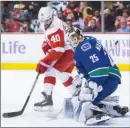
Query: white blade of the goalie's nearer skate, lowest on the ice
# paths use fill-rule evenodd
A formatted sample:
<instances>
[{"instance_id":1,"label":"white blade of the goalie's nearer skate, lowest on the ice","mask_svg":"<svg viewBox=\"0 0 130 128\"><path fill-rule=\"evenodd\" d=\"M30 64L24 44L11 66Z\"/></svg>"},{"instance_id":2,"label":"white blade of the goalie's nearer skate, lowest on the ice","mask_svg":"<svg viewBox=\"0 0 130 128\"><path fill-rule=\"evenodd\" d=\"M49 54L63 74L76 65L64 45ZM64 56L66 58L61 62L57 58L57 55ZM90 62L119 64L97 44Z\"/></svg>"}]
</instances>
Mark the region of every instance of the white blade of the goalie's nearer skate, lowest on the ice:
<instances>
[{"instance_id":1,"label":"white blade of the goalie's nearer skate, lowest on the ice","mask_svg":"<svg viewBox=\"0 0 130 128\"><path fill-rule=\"evenodd\" d=\"M86 124L87 125L93 125L93 124L105 122L105 121L107 121L109 119L111 119L110 116L103 116L100 120L97 120L95 117L93 117L93 118L88 119Z\"/></svg>"}]
</instances>

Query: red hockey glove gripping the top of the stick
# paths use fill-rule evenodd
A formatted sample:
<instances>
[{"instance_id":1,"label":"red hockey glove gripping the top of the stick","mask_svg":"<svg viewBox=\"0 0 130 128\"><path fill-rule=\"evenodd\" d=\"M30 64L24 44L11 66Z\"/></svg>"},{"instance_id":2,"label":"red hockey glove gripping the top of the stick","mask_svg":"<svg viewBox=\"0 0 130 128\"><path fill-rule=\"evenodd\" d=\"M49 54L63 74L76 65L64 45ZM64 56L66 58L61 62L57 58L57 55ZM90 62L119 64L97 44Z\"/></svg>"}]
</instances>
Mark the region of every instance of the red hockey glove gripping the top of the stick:
<instances>
[{"instance_id":1,"label":"red hockey glove gripping the top of the stick","mask_svg":"<svg viewBox=\"0 0 130 128\"><path fill-rule=\"evenodd\" d=\"M40 74L43 74L46 72L48 67L50 66L51 62L45 62L44 60L40 60L37 64L36 72L39 72Z\"/></svg>"}]
</instances>

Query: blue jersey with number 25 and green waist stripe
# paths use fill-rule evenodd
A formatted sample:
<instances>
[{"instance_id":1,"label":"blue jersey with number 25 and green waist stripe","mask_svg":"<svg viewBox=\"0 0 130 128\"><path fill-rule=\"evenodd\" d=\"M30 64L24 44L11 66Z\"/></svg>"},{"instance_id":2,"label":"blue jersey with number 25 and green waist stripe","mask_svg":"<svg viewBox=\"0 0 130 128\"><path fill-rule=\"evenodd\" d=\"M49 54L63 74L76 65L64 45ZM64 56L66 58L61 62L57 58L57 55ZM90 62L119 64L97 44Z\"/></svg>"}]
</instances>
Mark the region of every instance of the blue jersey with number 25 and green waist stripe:
<instances>
[{"instance_id":1,"label":"blue jersey with number 25 and green waist stripe","mask_svg":"<svg viewBox=\"0 0 130 128\"><path fill-rule=\"evenodd\" d=\"M85 37L75 49L75 65L79 73L98 85L108 78L117 79L121 83L121 74L102 44L94 37Z\"/></svg>"}]
</instances>

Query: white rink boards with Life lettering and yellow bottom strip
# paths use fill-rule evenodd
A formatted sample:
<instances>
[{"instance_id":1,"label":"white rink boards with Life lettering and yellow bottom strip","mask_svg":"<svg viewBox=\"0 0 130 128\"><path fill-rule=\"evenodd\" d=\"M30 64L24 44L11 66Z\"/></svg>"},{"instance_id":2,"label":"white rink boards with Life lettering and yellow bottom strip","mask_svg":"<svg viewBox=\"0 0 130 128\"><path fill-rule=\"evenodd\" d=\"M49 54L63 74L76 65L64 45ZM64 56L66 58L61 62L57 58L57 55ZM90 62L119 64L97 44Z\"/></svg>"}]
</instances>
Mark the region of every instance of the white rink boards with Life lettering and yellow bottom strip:
<instances>
[{"instance_id":1,"label":"white rink boards with Life lettering and yellow bottom strip","mask_svg":"<svg viewBox=\"0 0 130 128\"><path fill-rule=\"evenodd\" d=\"M129 34L84 34L100 41L112 56L120 70L130 71L130 35ZM44 35L12 34L1 35L1 69L35 70L37 62L44 58L41 50ZM115 43L117 44L115 45Z\"/></svg>"}]
</instances>

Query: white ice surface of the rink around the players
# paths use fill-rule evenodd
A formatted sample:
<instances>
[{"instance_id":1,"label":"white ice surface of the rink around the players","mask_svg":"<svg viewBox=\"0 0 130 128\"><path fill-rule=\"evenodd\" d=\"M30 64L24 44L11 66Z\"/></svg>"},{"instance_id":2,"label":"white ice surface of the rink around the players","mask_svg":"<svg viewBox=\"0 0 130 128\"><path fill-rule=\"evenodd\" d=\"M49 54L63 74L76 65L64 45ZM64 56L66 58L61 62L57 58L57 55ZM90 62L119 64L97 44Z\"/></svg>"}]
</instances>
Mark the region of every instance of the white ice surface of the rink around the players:
<instances>
[{"instance_id":1,"label":"white ice surface of the rink around the players","mask_svg":"<svg viewBox=\"0 0 130 128\"><path fill-rule=\"evenodd\" d=\"M122 84L113 95L120 96L120 105L130 107L130 72L122 72ZM75 72L73 72L73 75ZM4 112L19 111L32 87L36 77L35 71L1 71L1 126L2 127L86 127L83 123L74 119L59 117L48 120L44 117L44 112L34 111L33 104L39 101L40 92L43 91L43 77L38 79L29 104L23 115L13 118L3 118ZM54 89L54 103L61 107L62 101L68 97L68 90L63 87L60 81ZM121 118L112 118L100 125L103 127L130 127L130 114Z\"/></svg>"}]
</instances>

